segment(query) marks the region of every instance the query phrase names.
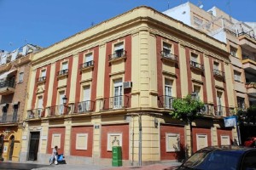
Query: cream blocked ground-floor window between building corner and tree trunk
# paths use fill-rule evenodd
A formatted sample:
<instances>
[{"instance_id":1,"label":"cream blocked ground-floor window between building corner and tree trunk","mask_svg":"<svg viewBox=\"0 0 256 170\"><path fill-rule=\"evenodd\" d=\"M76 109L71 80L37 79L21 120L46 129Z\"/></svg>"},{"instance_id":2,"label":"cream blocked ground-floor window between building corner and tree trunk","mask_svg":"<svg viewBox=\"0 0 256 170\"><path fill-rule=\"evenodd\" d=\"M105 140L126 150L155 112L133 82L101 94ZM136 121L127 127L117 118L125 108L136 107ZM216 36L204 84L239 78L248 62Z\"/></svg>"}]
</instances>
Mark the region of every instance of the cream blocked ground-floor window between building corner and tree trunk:
<instances>
[{"instance_id":1,"label":"cream blocked ground-floor window between building corner and tree trunk","mask_svg":"<svg viewBox=\"0 0 256 170\"><path fill-rule=\"evenodd\" d=\"M179 133L166 133L166 152L180 150Z\"/></svg>"}]
</instances>

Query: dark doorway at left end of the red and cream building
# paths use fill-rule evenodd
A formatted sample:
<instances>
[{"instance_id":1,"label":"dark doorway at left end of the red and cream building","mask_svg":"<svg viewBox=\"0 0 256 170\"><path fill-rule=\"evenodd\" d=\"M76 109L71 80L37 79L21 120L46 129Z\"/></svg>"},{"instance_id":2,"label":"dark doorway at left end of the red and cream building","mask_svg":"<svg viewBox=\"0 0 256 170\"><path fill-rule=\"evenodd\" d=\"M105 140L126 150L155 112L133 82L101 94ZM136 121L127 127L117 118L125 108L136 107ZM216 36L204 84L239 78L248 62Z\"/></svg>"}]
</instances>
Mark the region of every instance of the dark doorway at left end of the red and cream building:
<instances>
[{"instance_id":1,"label":"dark doorway at left end of the red and cream building","mask_svg":"<svg viewBox=\"0 0 256 170\"><path fill-rule=\"evenodd\" d=\"M38 160L39 139L40 139L39 132L30 133L28 161L37 161Z\"/></svg>"}]
</instances>

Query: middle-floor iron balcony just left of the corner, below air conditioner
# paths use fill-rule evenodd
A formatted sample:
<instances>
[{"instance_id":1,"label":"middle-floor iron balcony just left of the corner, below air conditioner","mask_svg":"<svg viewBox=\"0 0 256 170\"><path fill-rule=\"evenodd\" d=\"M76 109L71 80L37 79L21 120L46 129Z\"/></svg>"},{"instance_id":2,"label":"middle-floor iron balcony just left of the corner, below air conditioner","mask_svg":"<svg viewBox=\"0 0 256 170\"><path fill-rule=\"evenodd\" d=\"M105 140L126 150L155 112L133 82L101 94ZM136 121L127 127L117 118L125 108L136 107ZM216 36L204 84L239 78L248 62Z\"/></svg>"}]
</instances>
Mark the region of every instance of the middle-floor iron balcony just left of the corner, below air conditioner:
<instances>
[{"instance_id":1,"label":"middle-floor iron balcony just left of the corner, below air conditioner","mask_svg":"<svg viewBox=\"0 0 256 170\"><path fill-rule=\"evenodd\" d=\"M129 107L130 97L126 95L114 96L111 98L103 98L101 100L101 110L117 110Z\"/></svg>"}]
</instances>

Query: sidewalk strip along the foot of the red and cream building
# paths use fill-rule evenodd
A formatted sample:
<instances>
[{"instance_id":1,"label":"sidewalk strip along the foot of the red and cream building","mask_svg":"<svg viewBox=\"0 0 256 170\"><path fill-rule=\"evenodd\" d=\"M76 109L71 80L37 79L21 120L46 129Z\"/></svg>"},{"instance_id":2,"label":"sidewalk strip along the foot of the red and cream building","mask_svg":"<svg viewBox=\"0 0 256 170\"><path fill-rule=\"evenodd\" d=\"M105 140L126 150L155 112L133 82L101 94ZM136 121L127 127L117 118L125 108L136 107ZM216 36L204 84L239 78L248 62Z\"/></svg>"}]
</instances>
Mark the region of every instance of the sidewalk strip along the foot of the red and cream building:
<instances>
[{"instance_id":1,"label":"sidewalk strip along the foot of the red and cream building","mask_svg":"<svg viewBox=\"0 0 256 170\"><path fill-rule=\"evenodd\" d=\"M170 163L157 163L153 165L143 166L143 167L108 167L108 166L101 166L101 165L70 165L70 164L59 164L59 165L49 165L47 167L40 167L34 168L38 170L48 170L48 169L61 169L61 170L128 170L128 169L139 169L139 170L168 170L170 167L180 165L179 162L170 162Z\"/></svg>"}]
</instances>

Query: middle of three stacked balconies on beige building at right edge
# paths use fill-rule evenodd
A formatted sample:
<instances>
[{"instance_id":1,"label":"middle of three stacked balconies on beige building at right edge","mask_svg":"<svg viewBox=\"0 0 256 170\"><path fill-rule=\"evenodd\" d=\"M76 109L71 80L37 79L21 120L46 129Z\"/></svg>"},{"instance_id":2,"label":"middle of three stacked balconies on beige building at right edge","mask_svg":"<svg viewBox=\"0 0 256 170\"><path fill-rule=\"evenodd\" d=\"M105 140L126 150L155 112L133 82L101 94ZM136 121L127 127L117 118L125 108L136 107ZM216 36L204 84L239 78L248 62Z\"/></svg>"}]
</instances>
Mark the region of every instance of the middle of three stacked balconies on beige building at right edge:
<instances>
[{"instance_id":1,"label":"middle of three stacked balconies on beige building at right edge","mask_svg":"<svg viewBox=\"0 0 256 170\"><path fill-rule=\"evenodd\" d=\"M242 65L245 71L256 75L256 57L243 55Z\"/></svg>"}]
</instances>

